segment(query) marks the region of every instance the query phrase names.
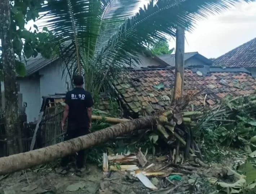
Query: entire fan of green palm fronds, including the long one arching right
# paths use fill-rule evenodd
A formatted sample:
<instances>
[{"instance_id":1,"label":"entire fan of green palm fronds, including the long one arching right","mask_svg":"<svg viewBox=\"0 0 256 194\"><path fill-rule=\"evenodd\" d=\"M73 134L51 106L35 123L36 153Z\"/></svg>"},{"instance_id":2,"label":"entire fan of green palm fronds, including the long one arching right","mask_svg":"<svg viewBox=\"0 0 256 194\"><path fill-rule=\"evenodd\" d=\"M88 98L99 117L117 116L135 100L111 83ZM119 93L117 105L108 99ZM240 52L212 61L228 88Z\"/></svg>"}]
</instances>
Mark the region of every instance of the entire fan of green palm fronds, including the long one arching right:
<instances>
[{"instance_id":1,"label":"entire fan of green palm fronds, including the long one arching right","mask_svg":"<svg viewBox=\"0 0 256 194\"><path fill-rule=\"evenodd\" d=\"M150 0L136 13L140 0L51 0L40 12L47 12L46 26L61 45L67 71L63 76L72 78L81 69L85 88L94 95L109 88L131 59L139 63L138 54L147 51L146 45L175 36L177 25L190 31L196 20L235 1Z\"/></svg>"}]
</instances>

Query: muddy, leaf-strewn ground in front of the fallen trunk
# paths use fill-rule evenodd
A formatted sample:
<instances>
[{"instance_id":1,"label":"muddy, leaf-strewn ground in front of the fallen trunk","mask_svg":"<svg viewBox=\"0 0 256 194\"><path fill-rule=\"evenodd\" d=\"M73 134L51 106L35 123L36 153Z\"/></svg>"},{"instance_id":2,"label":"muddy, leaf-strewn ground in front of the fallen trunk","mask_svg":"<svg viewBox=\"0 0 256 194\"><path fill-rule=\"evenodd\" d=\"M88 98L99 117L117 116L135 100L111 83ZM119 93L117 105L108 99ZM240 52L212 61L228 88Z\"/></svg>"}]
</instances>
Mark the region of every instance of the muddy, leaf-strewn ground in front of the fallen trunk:
<instances>
[{"instance_id":1,"label":"muddy, leaf-strewn ground in front of the fallen trunk","mask_svg":"<svg viewBox=\"0 0 256 194\"><path fill-rule=\"evenodd\" d=\"M87 166L88 170L82 176L76 175L72 169L62 175L56 172L59 168L44 168L34 172L27 170L26 174L24 171L16 172L0 181L0 190L4 191L4 194L95 194L101 189L100 184L110 184L113 193L140 194L149 191L139 181L133 183L125 180L125 172L112 172L109 178L103 180L101 168L95 165ZM74 184L80 184L83 188L69 191L68 187Z\"/></svg>"}]
</instances>

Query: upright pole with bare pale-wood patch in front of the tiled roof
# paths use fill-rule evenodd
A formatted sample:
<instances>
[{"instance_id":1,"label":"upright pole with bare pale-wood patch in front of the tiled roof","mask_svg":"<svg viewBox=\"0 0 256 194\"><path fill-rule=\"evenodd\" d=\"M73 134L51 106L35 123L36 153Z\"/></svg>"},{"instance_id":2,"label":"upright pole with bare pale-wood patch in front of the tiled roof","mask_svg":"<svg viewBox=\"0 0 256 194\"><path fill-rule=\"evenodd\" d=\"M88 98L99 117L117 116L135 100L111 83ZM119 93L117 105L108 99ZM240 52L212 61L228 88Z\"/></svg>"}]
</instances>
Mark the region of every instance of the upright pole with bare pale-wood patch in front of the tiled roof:
<instances>
[{"instance_id":1,"label":"upright pole with bare pale-wood patch in front of the tiled roof","mask_svg":"<svg viewBox=\"0 0 256 194\"><path fill-rule=\"evenodd\" d=\"M180 101L184 85L185 29L176 28L174 101Z\"/></svg>"}]
</instances>

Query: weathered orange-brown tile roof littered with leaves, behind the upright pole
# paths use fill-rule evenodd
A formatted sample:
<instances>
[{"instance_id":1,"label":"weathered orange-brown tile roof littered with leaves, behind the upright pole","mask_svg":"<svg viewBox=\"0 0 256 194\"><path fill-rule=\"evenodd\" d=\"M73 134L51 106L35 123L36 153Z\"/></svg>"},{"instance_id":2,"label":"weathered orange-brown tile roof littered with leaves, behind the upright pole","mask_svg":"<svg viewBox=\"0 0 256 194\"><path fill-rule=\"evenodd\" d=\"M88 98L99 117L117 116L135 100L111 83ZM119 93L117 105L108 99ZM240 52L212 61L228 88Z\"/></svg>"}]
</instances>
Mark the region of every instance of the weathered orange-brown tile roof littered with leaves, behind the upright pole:
<instances>
[{"instance_id":1,"label":"weathered orange-brown tile roof littered with leaves, behind the upright pole","mask_svg":"<svg viewBox=\"0 0 256 194\"><path fill-rule=\"evenodd\" d=\"M132 112L140 114L147 108L167 108L171 102L174 71L172 68L127 70L115 81L114 87ZM208 72L206 76L200 76L202 74L198 71L185 69L184 93L197 93L206 88L193 102L195 106L204 104L206 94L206 105L209 106L215 105L228 94L252 94L256 89L256 80L246 72L245 69L237 72Z\"/></svg>"}]
</instances>

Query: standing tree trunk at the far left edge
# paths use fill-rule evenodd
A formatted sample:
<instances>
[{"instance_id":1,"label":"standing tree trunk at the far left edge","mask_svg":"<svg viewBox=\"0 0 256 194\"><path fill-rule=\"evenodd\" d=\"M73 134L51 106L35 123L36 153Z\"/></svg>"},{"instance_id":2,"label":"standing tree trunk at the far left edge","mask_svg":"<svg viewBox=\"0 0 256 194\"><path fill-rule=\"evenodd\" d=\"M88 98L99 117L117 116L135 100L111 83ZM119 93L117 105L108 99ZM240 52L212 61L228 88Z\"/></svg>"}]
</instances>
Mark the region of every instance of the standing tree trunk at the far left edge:
<instances>
[{"instance_id":1,"label":"standing tree trunk at the far left edge","mask_svg":"<svg viewBox=\"0 0 256 194\"><path fill-rule=\"evenodd\" d=\"M9 154L19 153L21 131L18 124L18 92L16 84L15 60L10 32L10 1L0 1L0 34L2 43L4 88L5 88L5 131Z\"/></svg>"}]
</instances>

